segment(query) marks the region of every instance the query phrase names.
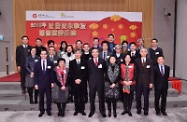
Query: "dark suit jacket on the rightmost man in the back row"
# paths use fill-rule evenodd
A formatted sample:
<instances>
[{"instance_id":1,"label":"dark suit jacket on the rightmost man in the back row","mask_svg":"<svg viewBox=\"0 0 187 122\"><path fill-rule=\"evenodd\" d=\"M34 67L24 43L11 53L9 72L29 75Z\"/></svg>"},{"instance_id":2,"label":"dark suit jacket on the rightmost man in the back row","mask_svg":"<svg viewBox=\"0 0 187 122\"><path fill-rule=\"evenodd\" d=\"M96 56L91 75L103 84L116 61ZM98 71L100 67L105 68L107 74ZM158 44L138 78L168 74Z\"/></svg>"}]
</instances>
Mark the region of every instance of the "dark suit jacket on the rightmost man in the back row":
<instances>
[{"instance_id":1,"label":"dark suit jacket on the rightmost man in the back row","mask_svg":"<svg viewBox=\"0 0 187 122\"><path fill-rule=\"evenodd\" d=\"M157 47L156 50L149 48L148 50L148 57L153 60L154 65L157 65L157 58L158 56L163 56L162 48Z\"/></svg>"}]
</instances>

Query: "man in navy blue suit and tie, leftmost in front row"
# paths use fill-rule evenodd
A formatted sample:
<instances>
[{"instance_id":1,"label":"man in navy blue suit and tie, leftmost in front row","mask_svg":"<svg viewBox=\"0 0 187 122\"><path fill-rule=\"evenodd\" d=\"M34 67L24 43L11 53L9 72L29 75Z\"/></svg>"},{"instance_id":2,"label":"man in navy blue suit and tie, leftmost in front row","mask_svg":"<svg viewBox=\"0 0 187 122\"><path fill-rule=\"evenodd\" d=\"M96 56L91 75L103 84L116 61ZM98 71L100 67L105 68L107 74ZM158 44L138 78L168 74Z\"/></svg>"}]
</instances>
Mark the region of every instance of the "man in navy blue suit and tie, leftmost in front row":
<instances>
[{"instance_id":1,"label":"man in navy blue suit and tie, leftmost in front row","mask_svg":"<svg viewBox=\"0 0 187 122\"><path fill-rule=\"evenodd\" d=\"M54 65L50 60L47 60L47 51L42 50L40 54L41 60L35 64L34 68L34 83L35 89L39 91L39 110L38 117L42 117L44 109L44 95L46 94L47 114L51 115L51 88L54 86L52 72Z\"/></svg>"}]
</instances>

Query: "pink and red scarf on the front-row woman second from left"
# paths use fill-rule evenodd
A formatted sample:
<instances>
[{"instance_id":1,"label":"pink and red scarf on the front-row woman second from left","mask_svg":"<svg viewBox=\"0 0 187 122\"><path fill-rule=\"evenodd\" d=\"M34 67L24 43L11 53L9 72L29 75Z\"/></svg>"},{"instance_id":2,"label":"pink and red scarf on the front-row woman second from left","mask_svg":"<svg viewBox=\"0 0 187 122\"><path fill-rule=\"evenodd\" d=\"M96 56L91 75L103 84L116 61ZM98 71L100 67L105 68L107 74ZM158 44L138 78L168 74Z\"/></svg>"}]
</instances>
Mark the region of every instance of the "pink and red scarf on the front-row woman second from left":
<instances>
[{"instance_id":1,"label":"pink and red scarf on the front-row woman second from left","mask_svg":"<svg viewBox=\"0 0 187 122\"><path fill-rule=\"evenodd\" d=\"M66 68L61 69L59 66L56 67L57 79L62 86L66 84Z\"/></svg>"}]
</instances>

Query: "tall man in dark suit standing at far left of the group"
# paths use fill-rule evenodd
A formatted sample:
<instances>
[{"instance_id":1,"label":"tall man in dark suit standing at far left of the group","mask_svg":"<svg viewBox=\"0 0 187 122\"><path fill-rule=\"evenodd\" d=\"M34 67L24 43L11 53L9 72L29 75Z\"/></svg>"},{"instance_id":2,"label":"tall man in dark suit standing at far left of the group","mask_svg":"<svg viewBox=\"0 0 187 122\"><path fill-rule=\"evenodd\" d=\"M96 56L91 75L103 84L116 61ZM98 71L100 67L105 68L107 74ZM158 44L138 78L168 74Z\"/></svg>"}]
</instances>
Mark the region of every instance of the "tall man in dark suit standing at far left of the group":
<instances>
[{"instance_id":1,"label":"tall man in dark suit standing at far left of the group","mask_svg":"<svg viewBox=\"0 0 187 122\"><path fill-rule=\"evenodd\" d=\"M28 45L29 38L27 36L23 36L21 38L22 45L19 45L16 48L16 65L18 72L21 76L21 89L22 94L26 93L26 87L25 87L25 76L26 76L26 57L30 54L31 46Z\"/></svg>"}]
</instances>

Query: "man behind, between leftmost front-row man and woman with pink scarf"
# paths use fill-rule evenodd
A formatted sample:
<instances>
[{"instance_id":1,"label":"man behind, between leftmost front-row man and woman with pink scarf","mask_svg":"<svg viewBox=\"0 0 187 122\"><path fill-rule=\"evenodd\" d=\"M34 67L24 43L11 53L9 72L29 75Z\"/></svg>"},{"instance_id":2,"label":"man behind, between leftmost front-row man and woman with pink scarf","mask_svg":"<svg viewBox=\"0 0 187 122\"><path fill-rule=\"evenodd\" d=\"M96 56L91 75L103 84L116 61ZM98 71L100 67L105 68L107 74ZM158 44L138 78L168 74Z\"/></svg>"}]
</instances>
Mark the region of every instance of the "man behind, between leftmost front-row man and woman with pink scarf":
<instances>
[{"instance_id":1,"label":"man behind, between leftmost front-row man and woman with pink scarf","mask_svg":"<svg viewBox=\"0 0 187 122\"><path fill-rule=\"evenodd\" d=\"M48 55L47 55L47 59L50 60L51 62L53 62L54 67L57 65L57 61L59 59L59 57L57 55L55 55L55 48L54 47L49 47L48 48Z\"/></svg>"}]
</instances>

